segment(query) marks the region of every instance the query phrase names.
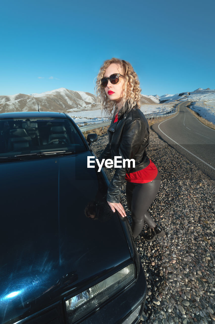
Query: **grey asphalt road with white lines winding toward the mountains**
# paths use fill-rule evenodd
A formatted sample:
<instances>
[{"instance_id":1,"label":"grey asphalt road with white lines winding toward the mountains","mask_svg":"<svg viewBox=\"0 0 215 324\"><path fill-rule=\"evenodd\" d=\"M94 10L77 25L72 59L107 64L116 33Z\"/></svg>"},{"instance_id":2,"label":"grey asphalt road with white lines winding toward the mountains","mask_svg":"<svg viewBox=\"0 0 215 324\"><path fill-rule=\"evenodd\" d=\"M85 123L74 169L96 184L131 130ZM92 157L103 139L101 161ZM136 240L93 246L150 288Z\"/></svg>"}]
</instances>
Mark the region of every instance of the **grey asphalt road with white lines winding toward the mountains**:
<instances>
[{"instance_id":1,"label":"grey asphalt road with white lines winding toward the mountains","mask_svg":"<svg viewBox=\"0 0 215 324\"><path fill-rule=\"evenodd\" d=\"M152 128L197 168L215 179L215 131L189 112L188 103L180 103L177 115L154 124Z\"/></svg>"}]
</instances>

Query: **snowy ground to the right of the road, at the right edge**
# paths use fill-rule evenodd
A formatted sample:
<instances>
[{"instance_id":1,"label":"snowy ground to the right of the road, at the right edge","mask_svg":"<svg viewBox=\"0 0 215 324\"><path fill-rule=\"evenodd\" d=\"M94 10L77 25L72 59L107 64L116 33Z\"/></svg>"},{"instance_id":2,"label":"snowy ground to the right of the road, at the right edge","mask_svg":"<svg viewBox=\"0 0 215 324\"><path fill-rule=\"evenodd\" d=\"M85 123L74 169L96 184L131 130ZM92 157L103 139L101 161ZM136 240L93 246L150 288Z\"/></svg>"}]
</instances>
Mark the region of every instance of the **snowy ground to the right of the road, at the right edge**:
<instances>
[{"instance_id":1,"label":"snowy ground to the right of the road, at the right edge","mask_svg":"<svg viewBox=\"0 0 215 324\"><path fill-rule=\"evenodd\" d=\"M214 101L193 101L192 110L198 112L201 117L215 124L215 100Z\"/></svg>"}]
</instances>

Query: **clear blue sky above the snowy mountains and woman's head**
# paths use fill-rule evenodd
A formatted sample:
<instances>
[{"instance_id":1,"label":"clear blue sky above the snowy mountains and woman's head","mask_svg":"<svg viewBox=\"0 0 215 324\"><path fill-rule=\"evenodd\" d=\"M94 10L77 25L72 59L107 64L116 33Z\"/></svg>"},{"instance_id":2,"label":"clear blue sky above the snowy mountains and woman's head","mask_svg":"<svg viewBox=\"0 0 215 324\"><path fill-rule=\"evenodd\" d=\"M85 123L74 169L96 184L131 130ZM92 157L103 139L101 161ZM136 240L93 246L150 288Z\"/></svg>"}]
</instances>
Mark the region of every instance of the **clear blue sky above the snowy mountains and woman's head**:
<instances>
[{"instance_id":1,"label":"clear blue sky above the snowy mountains and woman's head","mask_svg":"<svg viewBox=\"0 0 215 324\"><path fill-rule=\"evenodd\" d=\"M215 88L215 1L4 1L0 95L94 93L104 60L129 61L142 94Z\"/></svg>"}]
</instances>

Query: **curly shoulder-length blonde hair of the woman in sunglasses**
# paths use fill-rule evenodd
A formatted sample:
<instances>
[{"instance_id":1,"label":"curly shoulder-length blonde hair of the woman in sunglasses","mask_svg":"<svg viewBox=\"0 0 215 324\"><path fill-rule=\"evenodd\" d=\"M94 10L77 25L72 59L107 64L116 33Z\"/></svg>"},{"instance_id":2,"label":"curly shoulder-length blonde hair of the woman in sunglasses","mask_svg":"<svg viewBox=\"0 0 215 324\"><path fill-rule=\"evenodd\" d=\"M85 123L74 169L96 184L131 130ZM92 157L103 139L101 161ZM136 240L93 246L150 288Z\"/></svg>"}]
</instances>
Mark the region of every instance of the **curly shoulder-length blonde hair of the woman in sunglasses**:
<instances>
[{"instance_id":1,"label":"curly shoulder-length blonde hair of the woman in sunglasses","mask_svg":"<svg viewBox=\"0 0 215 324\"><path fill-rule=\"evenodd\" d=\"M101 66L99 73L97 75L96 80L96 95L97 100L102 107L102 112L105 111L105 116L108 114L112 116L117 112L117 106L114 100L109 100L105 89L101 86L101 79L104 77L107 67L112 64L119 64L123 69L123 75L125 80L124 86L124 95L123 95L123 112L125 111L125 103L128 100L128 110L131 110L133 106L138 105L137 108L140 108L140 92L141 89L139 87L138 75L134 72L133 67L127 61L120 60L118 58L113 57L110 60L106 60L104 64Z\"/></svg>"}]
</instances>

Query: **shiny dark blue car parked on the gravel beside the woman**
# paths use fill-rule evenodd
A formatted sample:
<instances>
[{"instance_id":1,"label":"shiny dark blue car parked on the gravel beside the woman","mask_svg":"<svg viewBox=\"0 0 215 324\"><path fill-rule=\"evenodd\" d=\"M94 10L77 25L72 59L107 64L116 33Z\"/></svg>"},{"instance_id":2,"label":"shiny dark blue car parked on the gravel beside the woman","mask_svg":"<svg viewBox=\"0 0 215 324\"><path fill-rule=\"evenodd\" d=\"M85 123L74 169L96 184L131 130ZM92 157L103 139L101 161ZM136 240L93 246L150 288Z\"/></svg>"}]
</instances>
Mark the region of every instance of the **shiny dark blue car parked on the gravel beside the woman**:
<instances>
[{"instance_id":1,"label":"shiny dark blue car parked on the gravel beside the woman","mask_svg":"<svg viewBox=\"0 0 215 324\"><path fill-rule=\"evenodd\" d=\"M87 156L65 113L0 114L0 323L139 322L147 284L131 229Z\"/></svg>"}]
</instances>

